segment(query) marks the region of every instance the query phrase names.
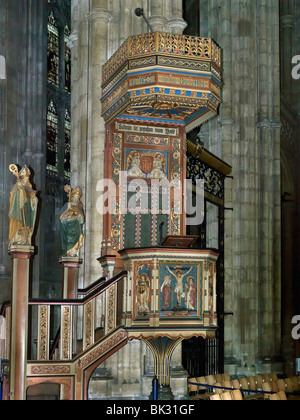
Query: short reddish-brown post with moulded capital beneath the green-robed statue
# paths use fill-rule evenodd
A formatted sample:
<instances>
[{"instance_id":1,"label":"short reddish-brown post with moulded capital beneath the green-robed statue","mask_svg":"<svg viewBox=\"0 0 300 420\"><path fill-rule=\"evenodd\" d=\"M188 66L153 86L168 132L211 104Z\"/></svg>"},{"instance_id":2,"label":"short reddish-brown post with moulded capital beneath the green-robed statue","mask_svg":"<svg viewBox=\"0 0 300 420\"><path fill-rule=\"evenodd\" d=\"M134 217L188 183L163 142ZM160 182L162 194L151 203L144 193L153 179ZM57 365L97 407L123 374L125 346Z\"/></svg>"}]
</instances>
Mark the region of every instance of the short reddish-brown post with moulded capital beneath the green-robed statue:
<instances>
[{"instance_id":1,"label":"short reddish-brown post with moulded capital beneath the green-robed statue","mask_svg":"<svg viewBox=\"0 0 300 420\"><path fill-rule=\"evenodd\" d=\"M78 275L82 259L79 257L62 257L59 262L63 267L62 298L77 299Z\"/></svg>"}]
</instances>

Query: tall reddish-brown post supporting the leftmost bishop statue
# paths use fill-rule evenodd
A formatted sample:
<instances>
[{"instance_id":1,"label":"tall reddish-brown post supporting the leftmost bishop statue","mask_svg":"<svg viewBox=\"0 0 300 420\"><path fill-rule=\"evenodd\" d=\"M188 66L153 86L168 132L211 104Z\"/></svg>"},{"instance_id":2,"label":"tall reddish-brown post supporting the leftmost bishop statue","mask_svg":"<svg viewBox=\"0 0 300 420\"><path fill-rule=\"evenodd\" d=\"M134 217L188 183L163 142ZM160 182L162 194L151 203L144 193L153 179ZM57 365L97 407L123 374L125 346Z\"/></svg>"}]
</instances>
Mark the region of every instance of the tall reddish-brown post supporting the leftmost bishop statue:
<instances>
[{"instance_id":1,"label":"tall reddish-brown post supporting the leftmost bishop statue","mask_svg":"<svg viewBox=\"0 0 300 420\"><path fill-rule=\"evenodd\" d=\"M10 400L26 400L29 266L32 246L12 245Z\"/></svg>"}]
</instances>

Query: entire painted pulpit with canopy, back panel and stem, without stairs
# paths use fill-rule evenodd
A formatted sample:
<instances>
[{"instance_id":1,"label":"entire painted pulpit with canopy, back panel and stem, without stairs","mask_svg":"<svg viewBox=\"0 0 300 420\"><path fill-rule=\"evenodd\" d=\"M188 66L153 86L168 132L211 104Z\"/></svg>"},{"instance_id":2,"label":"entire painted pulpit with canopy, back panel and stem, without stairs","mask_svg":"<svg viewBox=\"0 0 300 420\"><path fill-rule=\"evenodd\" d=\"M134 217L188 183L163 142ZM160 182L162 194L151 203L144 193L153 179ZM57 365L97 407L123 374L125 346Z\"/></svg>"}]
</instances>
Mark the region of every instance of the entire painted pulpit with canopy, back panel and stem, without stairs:
<instances>
[{"instance_id":1,"label":"entire painted pulpit with canopy, back panel and stem, without stairs","mask_svg":"<svg viewBox=\"0 0 300 420\"><path fill-rule=\"evenodd\" d=\"M128 273L122 324L150 347L165 389L175 347L217 330L219 254L187 234L205 209L200 177L187 185L186 135L217 115L220 56L211 39L154 32L129 37L103 67L99 261L110 275Z\"/></svg>"}]
</instances>

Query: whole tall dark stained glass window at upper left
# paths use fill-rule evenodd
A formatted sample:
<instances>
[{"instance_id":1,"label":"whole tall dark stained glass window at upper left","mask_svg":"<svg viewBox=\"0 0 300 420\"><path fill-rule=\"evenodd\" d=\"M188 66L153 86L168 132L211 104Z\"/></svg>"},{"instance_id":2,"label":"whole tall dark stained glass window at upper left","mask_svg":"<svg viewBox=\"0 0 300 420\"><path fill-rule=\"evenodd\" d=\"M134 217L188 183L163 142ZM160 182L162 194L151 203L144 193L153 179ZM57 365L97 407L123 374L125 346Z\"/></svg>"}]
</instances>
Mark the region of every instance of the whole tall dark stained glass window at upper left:
<instances>
[{"instance_id":1,"label":"whole tall dark stained glass window at upper left","mask_svg":"<svg viewBox=\"0 0 300 420\"><path fill-rule=\"evenodd\" d=\"M70 11L70 9L69 9ZM71 50L70 14L49 2L48 90L50 100L47 117L47 169L59 178L70 178L71 149Z\"/></svg>"}]
</instances>

